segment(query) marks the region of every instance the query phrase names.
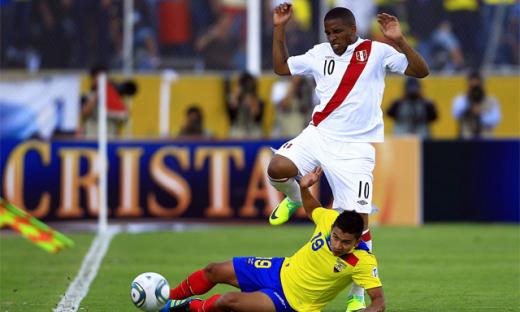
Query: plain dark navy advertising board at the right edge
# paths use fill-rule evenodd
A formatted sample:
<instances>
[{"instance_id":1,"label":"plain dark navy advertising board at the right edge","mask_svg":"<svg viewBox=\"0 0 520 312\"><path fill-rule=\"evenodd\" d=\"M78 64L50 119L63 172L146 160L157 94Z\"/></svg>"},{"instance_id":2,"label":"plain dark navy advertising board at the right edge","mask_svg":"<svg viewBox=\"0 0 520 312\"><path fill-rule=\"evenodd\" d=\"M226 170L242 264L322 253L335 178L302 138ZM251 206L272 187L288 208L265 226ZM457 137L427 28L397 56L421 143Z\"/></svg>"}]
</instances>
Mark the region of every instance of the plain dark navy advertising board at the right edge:
<instances>
[{"instance_id":1,"label":"plain dark navy advertising board at the right edge","mask_svg":"<svg viewBox=\"0 0 520 312\"><path fill-rule=\"evenodd\" d=\"M520 222L520 140L423 143L424 220Z\"/></svg>"}]
</instances>

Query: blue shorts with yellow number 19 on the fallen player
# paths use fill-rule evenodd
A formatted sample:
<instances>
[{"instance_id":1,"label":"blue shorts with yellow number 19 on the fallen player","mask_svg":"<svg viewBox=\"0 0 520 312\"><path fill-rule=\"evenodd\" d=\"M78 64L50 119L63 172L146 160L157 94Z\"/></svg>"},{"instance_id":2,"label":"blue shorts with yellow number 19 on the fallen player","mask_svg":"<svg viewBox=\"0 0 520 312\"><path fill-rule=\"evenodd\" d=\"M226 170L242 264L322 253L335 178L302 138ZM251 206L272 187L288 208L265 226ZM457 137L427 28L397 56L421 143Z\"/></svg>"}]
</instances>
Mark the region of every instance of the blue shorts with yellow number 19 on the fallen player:
<instances>
[{"instance_id":1,"label":"blue shorts with yellow number 19 on the fallen player","mask_svg":"<svg viewBox=\"0 0 520 312\"><path fill-rule=\"evenodd\" d=\"M280 268L284 260L285 258L233 258L240 290L261 291L271 298L277 312L294 312L285 298L280 281Z\"/></svg>"}]
</instances>

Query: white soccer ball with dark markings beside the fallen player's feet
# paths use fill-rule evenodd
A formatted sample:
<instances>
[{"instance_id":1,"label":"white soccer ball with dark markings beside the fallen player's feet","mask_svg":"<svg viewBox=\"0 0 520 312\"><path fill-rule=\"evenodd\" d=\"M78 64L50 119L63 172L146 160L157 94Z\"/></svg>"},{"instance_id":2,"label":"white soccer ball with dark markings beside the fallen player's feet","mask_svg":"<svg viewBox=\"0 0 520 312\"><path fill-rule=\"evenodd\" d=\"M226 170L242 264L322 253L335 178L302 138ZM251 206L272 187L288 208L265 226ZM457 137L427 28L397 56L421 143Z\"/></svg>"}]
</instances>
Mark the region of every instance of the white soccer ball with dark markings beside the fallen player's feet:
<instances>
[{"instance_id":1,"label":"white soccer ball with dark markings beside the fallen player's feet","mask_svg":"<svg viewBox=\"0 0 520 312\"><path fill-rule=\"evenodd\" d=\"M168 301L170 285L161 274L142 273L132 282L130 297L139 309L146 312L156 312Z\"/></svg>"}]
</instances>

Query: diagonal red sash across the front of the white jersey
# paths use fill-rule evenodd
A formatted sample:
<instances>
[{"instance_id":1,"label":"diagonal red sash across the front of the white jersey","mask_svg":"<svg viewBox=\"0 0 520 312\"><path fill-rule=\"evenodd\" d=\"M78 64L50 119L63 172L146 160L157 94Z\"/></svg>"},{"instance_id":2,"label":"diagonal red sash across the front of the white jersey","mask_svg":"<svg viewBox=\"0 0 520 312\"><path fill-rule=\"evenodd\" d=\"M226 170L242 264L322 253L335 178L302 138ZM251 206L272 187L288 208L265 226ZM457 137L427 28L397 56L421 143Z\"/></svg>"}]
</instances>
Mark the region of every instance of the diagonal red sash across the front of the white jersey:
<instances>
[{"instance_id":1,"label":"diagonal red sash across the front of the white jersey","mask_svg":"<svg viewBox=\"0 0 520 312\"><path fill-rule=\"evenodd\" d=\"M343 78L341 78L338 89L336 89L334 95L330 98L327 105L325 105L325 108L321 112L314 113L312 116L312 124L314 126L318 126L323 119L327 118L327 116L338 108L338 106L340 106L347 98L350 91L352 91L352 88L354 88L359 76L361 76L363 69L365 69L365 66L367 65L371 49L372 41L370 40L365 40L356 47L352 53L350 64L343 74Z\"/></svg>"}]
</instances>

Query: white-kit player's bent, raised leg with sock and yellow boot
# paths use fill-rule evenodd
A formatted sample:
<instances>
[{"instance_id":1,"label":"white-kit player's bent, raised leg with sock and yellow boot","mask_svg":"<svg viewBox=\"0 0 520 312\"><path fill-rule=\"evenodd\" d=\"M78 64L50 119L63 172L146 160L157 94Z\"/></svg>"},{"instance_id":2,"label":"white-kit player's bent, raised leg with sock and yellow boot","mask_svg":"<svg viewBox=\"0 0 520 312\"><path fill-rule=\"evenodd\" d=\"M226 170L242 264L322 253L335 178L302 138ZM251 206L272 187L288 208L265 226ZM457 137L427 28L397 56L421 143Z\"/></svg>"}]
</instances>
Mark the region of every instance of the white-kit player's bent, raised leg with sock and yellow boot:
<instances>
[{"instance_id":1,"label":"white-kit player's bent, raised leg with sock and yellow boot","mask_svg":"<svg viewBox=\"0 0 520 312\"><path fill-rule=\"evenodd\" d=\"M269 217L269 223L280 225L287 222L294 211L301 207L300 187L294 179L298 175L298 168L289 158L274 155L267 168L267 174L271 185L287 196Z\"/></svg>"}]
</instances>

